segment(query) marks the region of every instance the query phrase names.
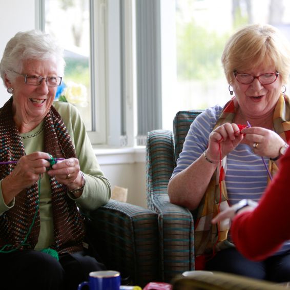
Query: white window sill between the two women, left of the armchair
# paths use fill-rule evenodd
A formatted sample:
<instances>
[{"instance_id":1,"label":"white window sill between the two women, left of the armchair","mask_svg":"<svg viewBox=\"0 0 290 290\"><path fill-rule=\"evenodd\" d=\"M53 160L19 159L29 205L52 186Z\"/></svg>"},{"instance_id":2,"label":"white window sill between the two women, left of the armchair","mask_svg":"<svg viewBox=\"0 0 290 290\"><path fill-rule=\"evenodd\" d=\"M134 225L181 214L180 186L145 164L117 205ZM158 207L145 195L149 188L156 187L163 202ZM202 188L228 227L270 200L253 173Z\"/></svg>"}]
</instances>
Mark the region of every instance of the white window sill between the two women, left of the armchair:
<instances>
[{"instance_id":1,"label":"white window sill between the two women, left of the armchair","mask_svg":"<svg viewBox=\"0 0 290 290\"><path fill-rule=\"evenodd\" d=\"M94 146L93 148L100 165L146 162L145 146L121 148Z\"/></svg>"}]
</instances>

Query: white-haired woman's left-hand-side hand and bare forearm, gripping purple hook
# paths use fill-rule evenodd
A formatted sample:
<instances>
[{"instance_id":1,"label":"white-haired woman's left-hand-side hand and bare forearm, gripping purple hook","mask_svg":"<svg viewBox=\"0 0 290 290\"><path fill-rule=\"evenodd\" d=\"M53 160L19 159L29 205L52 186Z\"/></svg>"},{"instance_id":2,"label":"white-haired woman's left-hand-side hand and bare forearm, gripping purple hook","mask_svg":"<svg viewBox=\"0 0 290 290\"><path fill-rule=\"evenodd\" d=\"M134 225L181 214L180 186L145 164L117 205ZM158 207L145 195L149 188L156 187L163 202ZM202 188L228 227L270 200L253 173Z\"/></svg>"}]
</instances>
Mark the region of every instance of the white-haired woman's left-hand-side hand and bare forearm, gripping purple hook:
<instances>
[{"instance_id":1,"label":"white-haired woman's left-hand-side hand and bare forearm, gripping purple hook","mask_svg":"<svg viewBox=\"0 0 290 290\"><path fill-rule=\"evenodd\" d=\"M50 167L50 155L44 152L33 152L22 156L14 170L2 180L2 193L6 204L22 190L30 187Z\"/></svg>"}]
</instances>

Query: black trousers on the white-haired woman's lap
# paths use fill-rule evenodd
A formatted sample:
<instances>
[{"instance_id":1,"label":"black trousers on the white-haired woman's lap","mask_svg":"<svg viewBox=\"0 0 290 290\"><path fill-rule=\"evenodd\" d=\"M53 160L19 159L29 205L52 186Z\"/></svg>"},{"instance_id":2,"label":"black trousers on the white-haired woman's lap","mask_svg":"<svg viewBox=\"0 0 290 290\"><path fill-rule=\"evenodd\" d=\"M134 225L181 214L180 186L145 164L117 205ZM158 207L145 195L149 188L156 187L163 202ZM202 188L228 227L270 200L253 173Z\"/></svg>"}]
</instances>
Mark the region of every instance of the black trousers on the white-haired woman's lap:
<instances>
[{"instance_id":1,"label":"black trousers on the white-haired woman's lap","mask_svg":"<svg viewBox=\"0 0 290 290\"><path fill-rule=\"evenodd\" d=\"M105 266L82 252L51 255L33 250L0 253L1 289L76 290ZM85 288L84 288L85 289Z\"/></svg>"}]
</instances>

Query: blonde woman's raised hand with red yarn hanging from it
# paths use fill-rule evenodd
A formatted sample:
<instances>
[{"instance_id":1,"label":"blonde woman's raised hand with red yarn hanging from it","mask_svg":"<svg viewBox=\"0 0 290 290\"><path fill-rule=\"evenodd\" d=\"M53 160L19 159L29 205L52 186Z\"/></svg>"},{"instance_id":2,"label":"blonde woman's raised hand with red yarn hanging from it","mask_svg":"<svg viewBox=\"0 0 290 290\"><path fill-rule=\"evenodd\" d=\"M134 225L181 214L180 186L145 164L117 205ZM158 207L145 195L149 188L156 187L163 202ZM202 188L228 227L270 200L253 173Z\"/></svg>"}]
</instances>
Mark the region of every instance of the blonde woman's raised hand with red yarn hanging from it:
<instances>
[{"instance_id":1,"label":"blonde woman's raised hand with red yarn hanging from it","mask_svg":"<svg viewBox=\"0 0 290 290\"><path fill-rule=\"evenodd\" d=\"M219 162L238 146L243 137L237 124L224 123L211 132L206 156L214 162Z\"/></svg>"}]
</instances>

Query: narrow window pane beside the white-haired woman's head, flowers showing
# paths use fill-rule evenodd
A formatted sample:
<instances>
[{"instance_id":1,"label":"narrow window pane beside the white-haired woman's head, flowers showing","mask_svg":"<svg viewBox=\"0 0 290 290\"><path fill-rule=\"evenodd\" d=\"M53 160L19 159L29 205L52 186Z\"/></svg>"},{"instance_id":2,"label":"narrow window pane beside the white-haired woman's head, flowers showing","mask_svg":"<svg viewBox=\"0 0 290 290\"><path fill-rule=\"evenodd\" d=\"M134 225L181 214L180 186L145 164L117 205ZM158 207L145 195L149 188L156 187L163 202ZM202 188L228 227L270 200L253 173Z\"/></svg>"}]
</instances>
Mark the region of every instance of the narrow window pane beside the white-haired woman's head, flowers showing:
<instances>
[{"instance_id":1,"label":"narrow window pane beside the white-haired woman's head, flowers showing","mask_svg":"<svg viewBox=\"0 0 290 290\"><path fill-rule=\"evenodd\" d=\"M65 48L65 77L56 99L76 106L91 131L89 0L45 0L45 31Z\"/></svg>"}]
</instances>

